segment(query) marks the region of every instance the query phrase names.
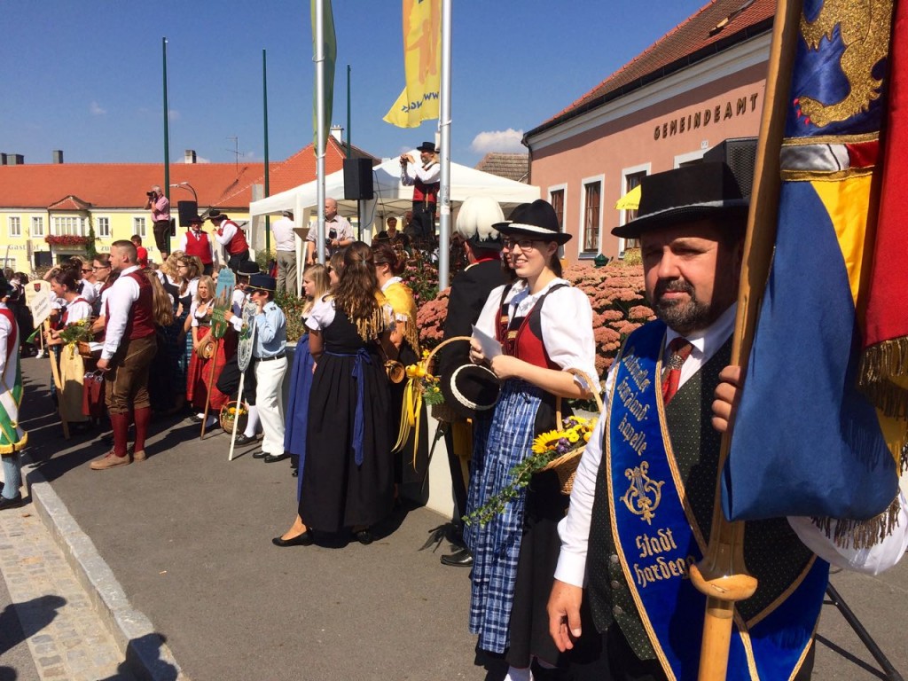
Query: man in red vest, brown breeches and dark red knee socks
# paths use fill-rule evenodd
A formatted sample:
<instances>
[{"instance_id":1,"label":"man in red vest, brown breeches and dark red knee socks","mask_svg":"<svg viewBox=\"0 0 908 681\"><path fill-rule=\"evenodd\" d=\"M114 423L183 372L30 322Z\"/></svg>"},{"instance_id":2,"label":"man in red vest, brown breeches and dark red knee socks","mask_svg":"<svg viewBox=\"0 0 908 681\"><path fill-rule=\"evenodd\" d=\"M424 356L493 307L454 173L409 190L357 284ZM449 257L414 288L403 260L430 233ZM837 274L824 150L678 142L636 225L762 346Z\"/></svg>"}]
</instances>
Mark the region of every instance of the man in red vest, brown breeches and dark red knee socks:
<instances>
[{"instance_id":1,"label":"man in red vest, brown breeches and dark red knee socks","mask_svg":"<svg viewBox=\"0 0 908 681\"><path fill-rule=\"evenodd\" d=\"M98 369L104 371L104 397L114 428L114 449L92 461L93 470L125 466L145 459L145 437L152 419L148 368L157 352L152 285L137 264L132 242L111 246L111 268L120 277L107 292L107 330ZM135 449L126 449L130 421L135 422Z\"/></svg>"}]
</instances>

